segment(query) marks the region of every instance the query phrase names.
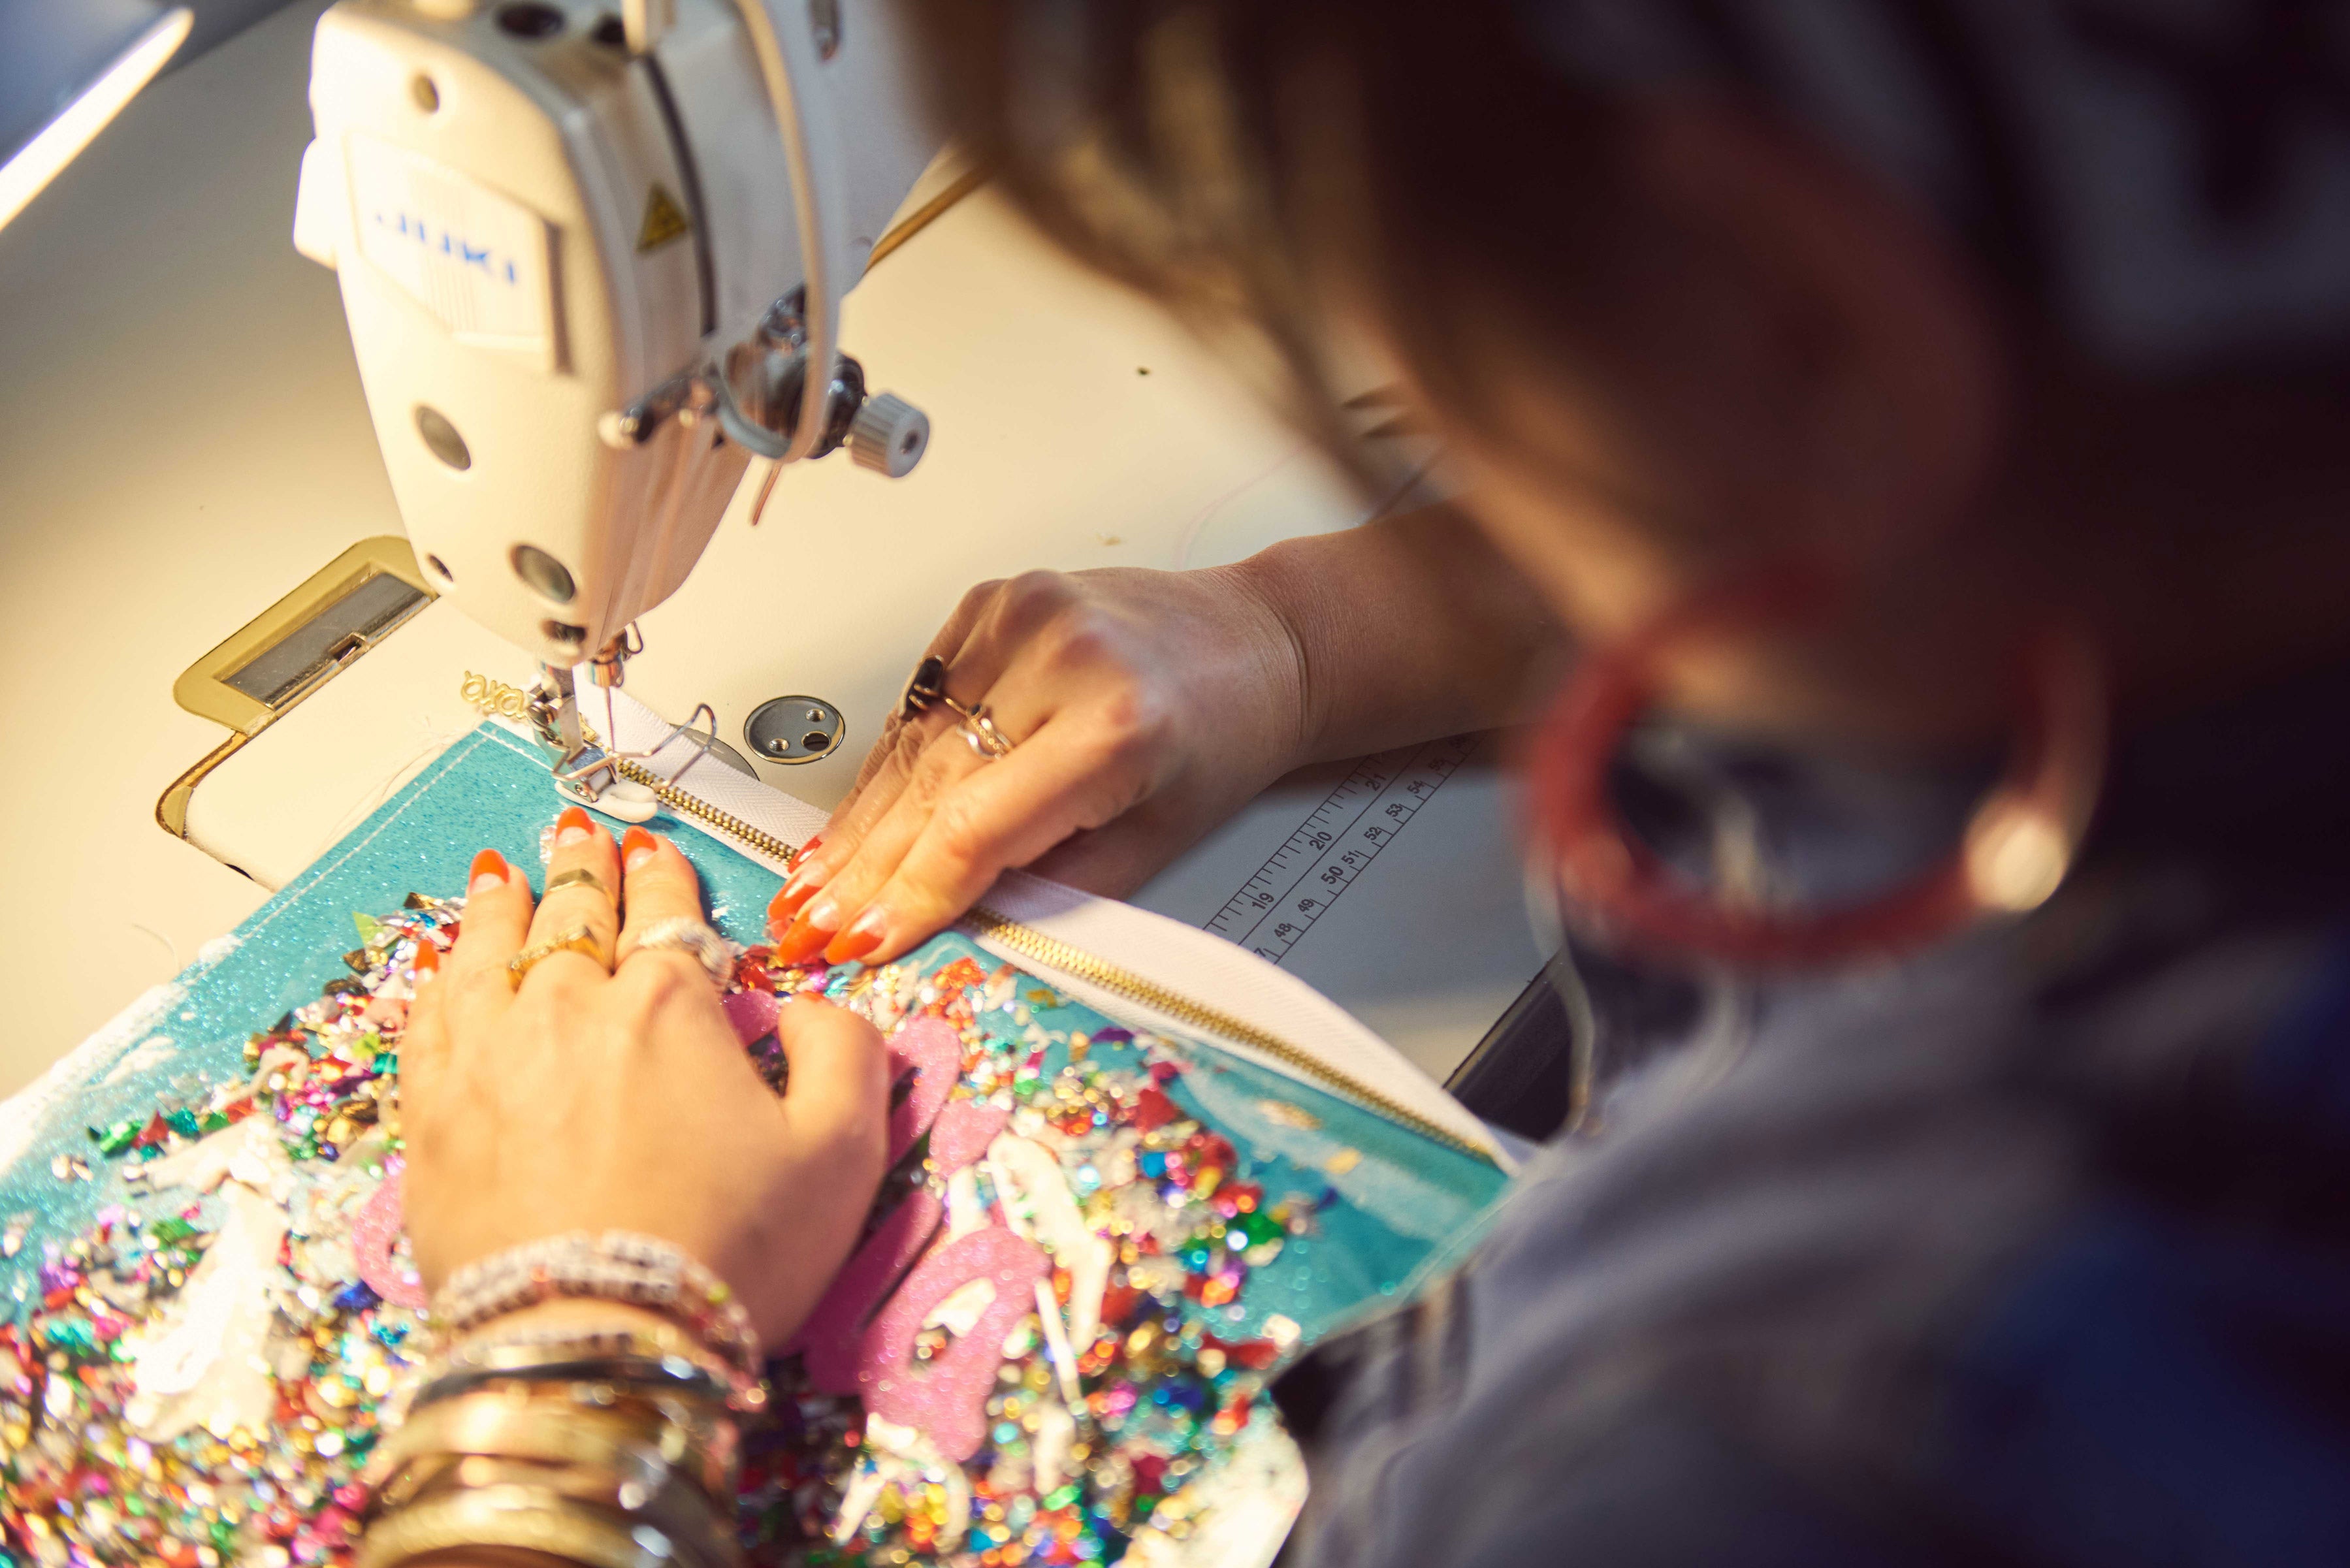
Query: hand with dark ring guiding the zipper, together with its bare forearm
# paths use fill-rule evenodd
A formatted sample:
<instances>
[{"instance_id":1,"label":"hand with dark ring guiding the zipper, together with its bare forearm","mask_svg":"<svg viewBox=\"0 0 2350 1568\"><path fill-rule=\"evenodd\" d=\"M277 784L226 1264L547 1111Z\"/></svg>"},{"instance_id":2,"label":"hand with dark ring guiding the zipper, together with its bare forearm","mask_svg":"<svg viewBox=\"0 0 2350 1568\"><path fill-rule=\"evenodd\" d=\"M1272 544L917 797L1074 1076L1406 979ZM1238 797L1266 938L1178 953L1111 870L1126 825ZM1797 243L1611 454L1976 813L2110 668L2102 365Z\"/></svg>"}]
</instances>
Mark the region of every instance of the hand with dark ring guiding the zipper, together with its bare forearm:
<instances>
[{"instance_id":1,"label":"hand with dark ring guiding the zipper, together with its bare forearm","mask_svg":"<svg viewBox=\"0 0 2350 1568\"><path fill-rule=\"evenodd\" d=\"M931 639L947 696L893 717L776 896L778 957L886 961L1010 865L1130 893L1295 766L1528 717L1558 628L1462 517L1426 508L1208 571L982 583Z\"/></svg>"}]
</instances>

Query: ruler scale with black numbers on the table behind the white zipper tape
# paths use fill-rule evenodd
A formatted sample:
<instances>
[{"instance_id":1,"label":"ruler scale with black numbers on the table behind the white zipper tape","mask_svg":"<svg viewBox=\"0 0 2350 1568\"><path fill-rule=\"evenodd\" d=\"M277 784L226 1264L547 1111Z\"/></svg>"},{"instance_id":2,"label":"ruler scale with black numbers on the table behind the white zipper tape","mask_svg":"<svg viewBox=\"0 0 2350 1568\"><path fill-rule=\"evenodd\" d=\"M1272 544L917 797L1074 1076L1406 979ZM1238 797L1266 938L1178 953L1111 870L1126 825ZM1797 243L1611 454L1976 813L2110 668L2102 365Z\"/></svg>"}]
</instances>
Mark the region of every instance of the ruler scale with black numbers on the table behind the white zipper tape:
<instances>
[{"instance_id":1,"label":"ruler scale with black numbers on the table behind the white zipper tape","mask_svg":"<svg viewBox=\"0 0 2350 1568\"><path fill-rule=\"evenodd\" d=\"M1241 884L1208 931L1278 964L1337 896L1379 858L1403 825L1476 752L1478 736L1405 745L1356 764Z\"/></svg>"}]
</instances>

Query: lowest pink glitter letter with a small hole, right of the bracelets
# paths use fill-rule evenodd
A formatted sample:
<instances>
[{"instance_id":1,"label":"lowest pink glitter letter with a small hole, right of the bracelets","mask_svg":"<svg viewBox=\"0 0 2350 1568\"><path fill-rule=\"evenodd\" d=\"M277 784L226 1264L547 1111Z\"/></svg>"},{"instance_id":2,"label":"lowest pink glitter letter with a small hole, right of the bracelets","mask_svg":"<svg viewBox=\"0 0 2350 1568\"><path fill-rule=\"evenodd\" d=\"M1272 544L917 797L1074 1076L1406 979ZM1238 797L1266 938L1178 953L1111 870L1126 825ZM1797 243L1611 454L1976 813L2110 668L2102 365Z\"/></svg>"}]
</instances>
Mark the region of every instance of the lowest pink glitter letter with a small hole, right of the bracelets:
<instances>
[{"instance_id":1,"label":"lowest pink glitter letter with a small hole, right of the bracelets","mask_svg":"<svg viewBox=\"0 0 2350 1568\"><path fill-rule=\"evenodd\" d=\"M1003 1338L1036 1309L1036 1281L1053 1272L1043 1251L994 1225L938 1248L907 1274L858 1345L858 1392L865 1413L924 1432L964 1462L987 1441L987 1394L1003 1366ZM928 1366L914 1368L914 1335L938 1302L973 1279L989 1279L996 1300Z\"/></svg>"}]
</instances>

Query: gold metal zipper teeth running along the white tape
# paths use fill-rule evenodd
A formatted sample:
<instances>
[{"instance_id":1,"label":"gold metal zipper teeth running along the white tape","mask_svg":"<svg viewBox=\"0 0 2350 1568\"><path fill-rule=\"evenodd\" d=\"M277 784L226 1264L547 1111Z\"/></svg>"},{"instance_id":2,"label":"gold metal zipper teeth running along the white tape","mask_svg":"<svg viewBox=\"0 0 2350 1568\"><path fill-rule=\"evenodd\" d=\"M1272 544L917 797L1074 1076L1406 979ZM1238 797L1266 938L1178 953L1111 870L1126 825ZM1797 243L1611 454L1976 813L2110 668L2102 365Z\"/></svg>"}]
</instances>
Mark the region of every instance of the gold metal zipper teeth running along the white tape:
<instances>
[{"instance_id":1,"label":"gold metal zipper teeth running along the white tape","mask_svg":"<svg viewBox=\"0 0 2350 1568\"><path fill-rule=\"evenodd\" d=\"M477 701L477 705L482 703ZM482 708L484 712L491 712L489 705ZM588 729L585 724L580 724L580 729L588 733L590 743L604 745L604 741L597 738L592 729ZM736 813L721 811L719 806L712 806L698 795L689 795L686 790L677 788L674 783L670 783L653 769L644 766L642 762L616 757L613 769L620 773L620 778L627 778L630 783L639 783L646 790L651 790L660 799L660 804L682 811L684 816L691 816L696 823L710 827L721 837L736 839L738 844L750 844L759 853L773 860L783 860L785 865L792 865L799 858L797 844L785 844L776 835L761 827L752 827ZM1410 1128L1422 1138L1431 1138L1445 1145L1448 1150L1459 1150L1462 1154L1483 1159L1490 1166L1502 1164L1492 1157L1492 1150L1478 1147L1466 1138L1462 1138L1459 1133L1429 1121L1426 1117L1410 1110L1408 1105L1401 1105L1391 1095L1384 1095L1370 1084L1363 1084L1351 1074L1340 1072L1337 1067L1328 1065L1311 1051L1295 1046L1288 1039L1281 1039L1271 1030L1260 1030L1246 1018L1208 1006L1206 1001L1196 1001L1184 992L1161 985L1149 976L1137 976L1135 971L1121 964L1112 964L1109 959L1100 959L1086 952L1083 947L1060 940L1058 936L1046 936L1034 926L1006 919L1003 914L996 914L987 905L973 907L956 924L971 936L985 936L992 938L994 943L1001 943L1003 947L1018 952L1020 957L1029 959L1041 969L1058 969L1060 973L1074 976L1076 980L1083 980L1086 985L1109 992L1112 997L1121 997L1137 1006L1147 1006L1154 1013L1163 1013L1166 1018L1173 1018L1189 1030L1198 1030L1201 1034L1222 1037L1234 1044L1248 1046L1250 1051L1262 1051L1264 1056L1311 1079L1321 1088L1328 1088L1342 1100L1351 1100L1361 1110L1384 1117L1396 1126Z\"/></svg>"}]
</instances>

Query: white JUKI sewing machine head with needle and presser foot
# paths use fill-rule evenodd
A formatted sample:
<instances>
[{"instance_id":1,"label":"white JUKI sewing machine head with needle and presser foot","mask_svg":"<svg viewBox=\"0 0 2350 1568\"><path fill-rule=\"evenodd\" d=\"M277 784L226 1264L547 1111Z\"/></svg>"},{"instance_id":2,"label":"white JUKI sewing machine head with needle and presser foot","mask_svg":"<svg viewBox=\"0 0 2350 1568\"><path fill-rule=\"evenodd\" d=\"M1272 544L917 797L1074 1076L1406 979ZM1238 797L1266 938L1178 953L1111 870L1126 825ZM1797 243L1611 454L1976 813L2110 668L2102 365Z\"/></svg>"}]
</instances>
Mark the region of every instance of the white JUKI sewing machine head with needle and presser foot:
<instances>
[{"instance_id":1,"label":"white JUKI sewing machine head with needle and presser foot","mask_svg":"<svg viewBox=\"0 0 2350 1568\"><path fill-rule=\"evenodd\" d=\"M790 463L902 477L928 444L839 353L938 153L891 7L343 0L310 106L294 242L338 268L416 557L538 658L557 788L649 818L576 668L623 682L752 458L757 522Z\"/></svg>"}]
</instances>

